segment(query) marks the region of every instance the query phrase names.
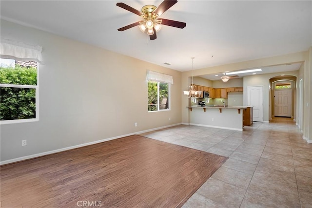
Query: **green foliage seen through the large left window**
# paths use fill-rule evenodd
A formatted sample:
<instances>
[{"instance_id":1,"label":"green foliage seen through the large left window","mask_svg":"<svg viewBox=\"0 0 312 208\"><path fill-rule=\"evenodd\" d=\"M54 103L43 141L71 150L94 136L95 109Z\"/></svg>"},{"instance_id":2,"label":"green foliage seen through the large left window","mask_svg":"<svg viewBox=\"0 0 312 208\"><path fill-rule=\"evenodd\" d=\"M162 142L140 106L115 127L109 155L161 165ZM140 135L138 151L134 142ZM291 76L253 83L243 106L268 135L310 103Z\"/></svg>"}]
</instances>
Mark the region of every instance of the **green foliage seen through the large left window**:
<instances>
[{"instance_id":1,"label":"green foliage seen through the large left window","mask_svg":"<svg viewBox=\"0 0 312 208\"><path fill-rule=\"evenodd\" d=\"M0 120L36 118L36 89L22 85L37 85L37 69L19 65L0 67L1 84L17 84L18 87L0 88Z\"/></svg>"}]
</instances>

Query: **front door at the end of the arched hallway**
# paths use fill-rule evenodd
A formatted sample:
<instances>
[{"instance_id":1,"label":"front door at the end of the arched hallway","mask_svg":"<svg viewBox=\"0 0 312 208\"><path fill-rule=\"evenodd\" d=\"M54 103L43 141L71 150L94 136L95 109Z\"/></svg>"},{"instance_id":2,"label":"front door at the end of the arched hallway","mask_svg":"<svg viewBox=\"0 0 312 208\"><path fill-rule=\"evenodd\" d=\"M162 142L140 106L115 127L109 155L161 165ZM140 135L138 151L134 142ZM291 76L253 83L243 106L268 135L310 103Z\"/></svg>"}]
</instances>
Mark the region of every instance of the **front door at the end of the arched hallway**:
<instances>
[{"instance_id":1,"label":"front door at the end of the arched hallway","mask_svg":"<svg viewBox=\"0 0 312 208\"><path fill-rule=\"evenodd\" d=\"M292 116L292 90L275 90L274 116Z\"/></svg>"}]
</instances>

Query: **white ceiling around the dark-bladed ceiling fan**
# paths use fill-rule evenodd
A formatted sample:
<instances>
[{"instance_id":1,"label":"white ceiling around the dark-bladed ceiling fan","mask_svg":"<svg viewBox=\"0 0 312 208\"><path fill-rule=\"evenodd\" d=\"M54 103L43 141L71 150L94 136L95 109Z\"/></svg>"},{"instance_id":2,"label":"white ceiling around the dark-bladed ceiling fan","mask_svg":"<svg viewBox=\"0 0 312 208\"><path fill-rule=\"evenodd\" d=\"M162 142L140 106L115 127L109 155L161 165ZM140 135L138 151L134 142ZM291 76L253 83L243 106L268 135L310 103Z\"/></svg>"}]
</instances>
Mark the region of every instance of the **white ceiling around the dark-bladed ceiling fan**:
<instances>
[{"instance_id":1,"label":"white ceiling around the dark-bladed ceiling fan","mask_svg":"<svg viewBox=\"0 0 312 208\"><path fill-rule=\"evenodd\" d=\"M310 0L178 0L160 17L186 22L186 27L164 25L156 40L138 27L117 31L141 20L117 7L117 2L141 10L162 0L1 0L0 16L178 71L192 69L191 57L195 57L194 69L200 69L307 51L312 46ZM299 67L263 70L272 73Z\"/></svg>"}]
</instances>

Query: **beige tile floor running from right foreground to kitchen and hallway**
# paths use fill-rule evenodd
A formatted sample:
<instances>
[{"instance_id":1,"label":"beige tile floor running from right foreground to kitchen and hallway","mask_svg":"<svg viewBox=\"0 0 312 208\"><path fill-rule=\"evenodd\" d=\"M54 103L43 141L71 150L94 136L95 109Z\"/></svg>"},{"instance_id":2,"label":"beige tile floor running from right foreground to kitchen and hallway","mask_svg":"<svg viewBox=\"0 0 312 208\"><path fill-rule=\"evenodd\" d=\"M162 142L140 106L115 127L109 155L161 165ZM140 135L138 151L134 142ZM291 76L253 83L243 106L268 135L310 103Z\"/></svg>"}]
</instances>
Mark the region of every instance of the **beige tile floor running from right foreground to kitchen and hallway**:
<instances>
[{"instance_id":1,"label":"beige tile floor running from right foreground to kitchen and hallway","mask_svg":"<svg viewBox=\"0 0 312 208\"><path fill-rule=\"evenodd\" d=\"M141 135L229 157L182 208L312 208L312 144L290 118L243 132L179 125Z\"/></svg>"}]
</instances>

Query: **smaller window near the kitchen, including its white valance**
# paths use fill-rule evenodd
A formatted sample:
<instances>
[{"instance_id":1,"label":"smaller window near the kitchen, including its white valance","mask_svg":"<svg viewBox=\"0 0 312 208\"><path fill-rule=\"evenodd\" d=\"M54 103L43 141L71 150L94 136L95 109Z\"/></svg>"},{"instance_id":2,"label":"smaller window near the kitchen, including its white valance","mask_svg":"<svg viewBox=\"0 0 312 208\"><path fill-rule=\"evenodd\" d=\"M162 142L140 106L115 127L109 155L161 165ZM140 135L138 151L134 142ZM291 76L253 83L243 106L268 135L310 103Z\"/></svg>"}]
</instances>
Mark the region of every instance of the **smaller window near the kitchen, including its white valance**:
<instances>
[{"instance_id":1,"label":"smaller window near the kitchen, including its white valance","mask_svg":"<svg viewBox=\"0 0 312 208\"><path fill-rule=\"evenodd\" d=\"M170 75L147 71L148 112L170 110L170 86L174 83Z\"/></svg>"}]
</instances>

